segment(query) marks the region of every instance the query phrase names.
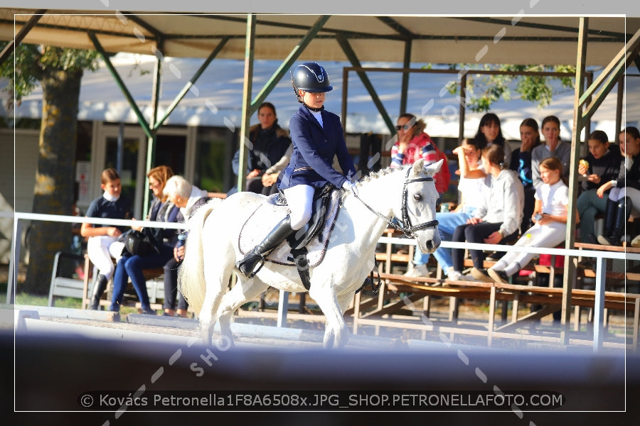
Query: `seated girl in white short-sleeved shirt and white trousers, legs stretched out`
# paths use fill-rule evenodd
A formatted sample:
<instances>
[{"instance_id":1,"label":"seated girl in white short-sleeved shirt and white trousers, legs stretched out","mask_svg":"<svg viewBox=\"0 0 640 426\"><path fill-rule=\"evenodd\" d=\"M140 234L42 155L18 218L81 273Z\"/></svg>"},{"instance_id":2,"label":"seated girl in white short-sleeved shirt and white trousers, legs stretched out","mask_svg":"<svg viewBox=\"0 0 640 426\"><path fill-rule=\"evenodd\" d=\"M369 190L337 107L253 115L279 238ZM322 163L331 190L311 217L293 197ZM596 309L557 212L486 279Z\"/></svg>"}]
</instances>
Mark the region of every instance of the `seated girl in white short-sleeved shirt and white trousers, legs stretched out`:
<instances>
[{"instance_id":1,"label":"seated girl in white short-sleeved shirt and white trousers, legs stretched out","mask_svg":"<svg viewBox=\"0 0 640 426\"><path fill-rule=\"evenodd\" d=\"M543 185L535 190L534 223L516 242L518 247L555 247L565 241L569 187L562 180L562 163L548 157L540 161ZM534 253L506 253L487 273L498 283L508 283L511 275L520 271L535 256Z\"/></svg>"}]
</instances>

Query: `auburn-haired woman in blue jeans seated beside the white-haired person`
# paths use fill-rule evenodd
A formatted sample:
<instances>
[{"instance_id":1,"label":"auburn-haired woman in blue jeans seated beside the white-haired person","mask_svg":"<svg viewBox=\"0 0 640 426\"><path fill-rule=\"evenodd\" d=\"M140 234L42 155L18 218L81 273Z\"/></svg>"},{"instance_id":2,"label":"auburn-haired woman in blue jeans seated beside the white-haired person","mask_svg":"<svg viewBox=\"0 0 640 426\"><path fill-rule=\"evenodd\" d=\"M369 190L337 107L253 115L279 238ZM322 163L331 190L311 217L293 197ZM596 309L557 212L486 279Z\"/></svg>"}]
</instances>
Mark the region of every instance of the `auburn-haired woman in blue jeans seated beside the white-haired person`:
<instances>
[{"instance_id":1,"label":"auburn-haired woman in blue jeans seated beside the white-haired person","mask_svg":"<svg viewBox=\"0 0 640 426\"><path fill-rule=\"evenodd\" d=\"M166 199L163 190L166 181L174 175L173 170L166 165L159 165L149 170L146 174L149 177L149 188L154 193L151 206L149 207L149 217L147 220L156 222L176 222L180 209ZM142 231L142 226L132 226L133 229ZM149 228L147 235L154 240L154 245L158 249L158 253L149 253L145 256L133 255L124 251L122 258L117 264L117 268L113 278L113 296L111 300L110 310L118 312L124 290L127 289L127 281L131 279L131 283L136 290L140 305L142 305L142 313L155 315L156 312L149 305L149 294L146 293L146 280L144 279L145 269L160 268L164 266L174 256L174 246L177 241L175 229Z\"/></svg>"}]
</instances>

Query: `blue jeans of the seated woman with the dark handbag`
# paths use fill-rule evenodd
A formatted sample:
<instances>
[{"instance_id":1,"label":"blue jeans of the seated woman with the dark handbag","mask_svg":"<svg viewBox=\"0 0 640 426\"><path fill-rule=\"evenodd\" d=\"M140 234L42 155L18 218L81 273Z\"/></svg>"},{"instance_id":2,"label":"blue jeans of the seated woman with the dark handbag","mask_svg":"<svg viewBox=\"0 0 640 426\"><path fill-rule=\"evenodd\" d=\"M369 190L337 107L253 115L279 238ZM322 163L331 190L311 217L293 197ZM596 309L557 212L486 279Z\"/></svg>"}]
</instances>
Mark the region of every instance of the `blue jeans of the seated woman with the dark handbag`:
<instances>
[{"instance_id":1,"label":"blue jeans of the seated woman with the dark handbag","mask_svg":"<svg viewBox=\"0 0 640 426\"><path fill-rule=\"evenodd\" d=\"M170 258L174 257L174 248L163 244L159 254L149 254L146 256L132 256L129 253L122 255L118 261L113 275L113 296L109 310L119 312L124 290L127 290L128 278L136 290L143 311L151 310L149 306L149 294L146 293L146 280L142 271L144 269L161 268Z\"/></svg>"}]
</instances>

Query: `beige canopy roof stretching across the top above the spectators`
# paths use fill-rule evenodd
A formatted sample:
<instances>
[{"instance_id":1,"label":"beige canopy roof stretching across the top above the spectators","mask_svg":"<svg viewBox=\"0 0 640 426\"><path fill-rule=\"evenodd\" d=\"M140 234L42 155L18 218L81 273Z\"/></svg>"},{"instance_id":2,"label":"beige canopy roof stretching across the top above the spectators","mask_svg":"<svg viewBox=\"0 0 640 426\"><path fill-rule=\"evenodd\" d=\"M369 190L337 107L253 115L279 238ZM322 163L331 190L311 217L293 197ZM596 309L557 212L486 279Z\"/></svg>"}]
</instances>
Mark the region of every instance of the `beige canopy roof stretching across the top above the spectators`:
<instances>
[{"instance_id":1,"label":"beige canopy roof stretching across the top above the spectators","mask_svg":"<svg viewBox=\"0 0 640 426\"><path fill-rule=\"evenodd\" d=\"M35 9L0 9L0 40L12 40ZM16 26L14 29L14 16ZM255 59L284 59L319 15L258 14ZM345 16L332 15L300 60L348 60L336 38L344 37L361 61L575 64L577 16ZM590 17L587 66L607 65L640 28L640 18ZM206 58L228 38L217 58L244 59L246 14L47 11L24 43L93 49L95 33L107 52L161 53ZM553 48L551 47L553 45Z\"/></svg>"}]
</instances>

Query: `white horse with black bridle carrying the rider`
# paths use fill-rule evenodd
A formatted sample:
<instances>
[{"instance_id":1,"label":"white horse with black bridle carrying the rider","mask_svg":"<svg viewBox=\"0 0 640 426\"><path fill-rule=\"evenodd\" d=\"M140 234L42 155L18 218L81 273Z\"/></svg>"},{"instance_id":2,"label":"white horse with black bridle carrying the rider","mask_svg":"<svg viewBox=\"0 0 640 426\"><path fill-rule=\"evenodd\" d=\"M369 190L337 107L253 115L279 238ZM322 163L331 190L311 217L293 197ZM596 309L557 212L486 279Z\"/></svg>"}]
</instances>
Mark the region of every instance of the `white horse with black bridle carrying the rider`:
<instances>
[{"instance_id":1,"label":"white horse with black bridle carrying the rider","mask_svg":"<svg viewBox=\"0 0 640 426\"><path fill-rule=\"evenodd\" d=\"M433 175L441 166L442 160L427 167L418 160L403 168L380 170L358 182L357 195L343 195L324 260L309 268L309 296L326 317L325 347L346 343L343 312L372 271L375 246L386 227L396 226L414 236L423 253L432 253L439 246L435 220L438 193ZM289 292L306 291L292 266L265 261L252 278L235 268L235 262L243 257L238 244L240 230L265 199L252 192L238 192L205 204L189 221L179 285L200 319L205 344L211 344L217 321L222 337L233 344L231 316L270 285ZM227 293L232 273L238 276L238 283Z\"/></svg>"}]
</instances>

